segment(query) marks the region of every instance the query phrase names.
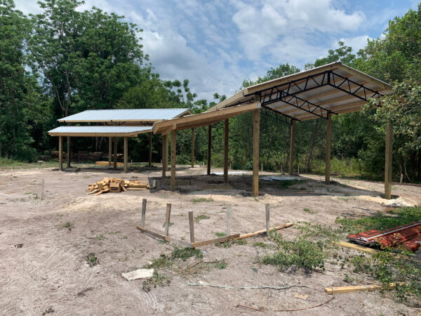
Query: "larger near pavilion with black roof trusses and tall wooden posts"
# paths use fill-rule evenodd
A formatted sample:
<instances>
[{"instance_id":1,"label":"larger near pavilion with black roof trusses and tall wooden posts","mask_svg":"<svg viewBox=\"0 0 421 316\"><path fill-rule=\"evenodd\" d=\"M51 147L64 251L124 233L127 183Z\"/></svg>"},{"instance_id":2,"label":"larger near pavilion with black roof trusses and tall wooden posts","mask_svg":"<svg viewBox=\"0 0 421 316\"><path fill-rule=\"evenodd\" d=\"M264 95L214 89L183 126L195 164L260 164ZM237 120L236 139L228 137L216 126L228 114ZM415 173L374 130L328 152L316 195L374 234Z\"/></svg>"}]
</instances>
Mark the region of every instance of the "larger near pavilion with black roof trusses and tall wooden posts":
<instances>
[{"instance_id":1,"label":"larger near pavilion with black roof trusses and tall wooden posts","mask_svg":"<svg viewBox=\"0 0 421 316\"><path fill-rule=\"evenodd\" d=\"M304 72L266 81L239 91L207 112L187 115L166 121L157 121L154 133L163 136L163 170L168 165L168 133L171 133L171 190L175 190L175 146L177 131L192 129L192 166L194 164L194 128L208 126L208 174L212 124L225 121L224 181L228 180L229 118L253 112L253 195L259 192L259 134L260 113L290 125L290 173L293 173L295 122L308 119L326 119L326 183L330 183L331 117L335 114L357 112L370 98L381 98L392 91L389 84L333 62ZM392 183L392 124L386 129L385 197L391 198Z\"/></svg>"}]
</instances>

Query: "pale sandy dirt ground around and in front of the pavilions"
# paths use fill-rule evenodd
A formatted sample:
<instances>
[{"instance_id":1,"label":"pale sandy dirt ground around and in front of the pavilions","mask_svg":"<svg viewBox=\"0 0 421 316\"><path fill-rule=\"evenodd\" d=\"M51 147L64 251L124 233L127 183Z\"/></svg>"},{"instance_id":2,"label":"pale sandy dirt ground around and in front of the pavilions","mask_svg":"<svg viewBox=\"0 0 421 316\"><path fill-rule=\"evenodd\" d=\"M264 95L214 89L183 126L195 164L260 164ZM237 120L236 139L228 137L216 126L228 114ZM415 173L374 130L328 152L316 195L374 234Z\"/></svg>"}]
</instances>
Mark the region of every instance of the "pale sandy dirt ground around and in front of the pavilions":
<instances>
[{"instance_id":1,"label":"pale sandy dirt ground around and in front of the pavilions","mask_svg":"<svg viewBox=\"0 0 421 316\"><path fill-rule=\"evenodd\" d=\"M213 169L213 172L221 172ZM222 184L222 176L206 176L206 169L178 167L178 178L191 180L176 192L161 181L160 169L130 173L107 169L78 172L52 169L0 170L0 314L41 315L249 315L256 313L236 305L263 308L267 315L279 309L305 308L328 301L324 287L347 286L339 265L327 263L323 272L283 270L258 263L256 258L272 251L253 246L269 242L265 236L248 239L248 244L230 248L203 246L203 261L225 260L227 268L189 272L186 262L176 262L171 283L142 290L142 280L128 282L122 272L142 268L173 246L157 242L136 229L140 223L142 199L147 199L146 226L163 232L166 204L172 204L170 235L189 239L188 211L209 218L195 223L196 241L215 238L225 232L226 209L232 206L232 233L265 229L265 204L271 207L271 225L287 222L327 224L338 227L335 218L359 218L385 211L383 183L334 178L324 185L321 176L302 176L303 183L287 189L276 182L260 180L261 195L250 196L250 172L229 176L230 190L203 189ZM274 173L261 173L274 175ZM157 180L148 191L86 195L88 183L104 177L128 180ZM44 199L41 200L41 180ZM393 185L392 194L408 204L421 204L421 187ZM201 197L212 202L194 203ZM311 209L312 212L303 211ZM70 223L66 228L65 223ZM294 228L282 232L288 238ZM345 250L344 250L345 251ZM351 250L347 250L352 253ZM95 254L99 264L86 262ZM186 268L187 267L187 268ZM180 272L182 271L182 272ZM366 280L368 283L369 279ZM285 286L274 289L218 289L192 287L206 282L231 287ZM296 297L296 294L300 294ZM307 297L306 297L307 295ZM49 308L51 308L49 310ZM257 312L259 314L259 312ZM419 315L420 310L396 303L387 294L356 292L338 294L318 308L289 312L292 315Z\"/></svg>"}]
</instances>

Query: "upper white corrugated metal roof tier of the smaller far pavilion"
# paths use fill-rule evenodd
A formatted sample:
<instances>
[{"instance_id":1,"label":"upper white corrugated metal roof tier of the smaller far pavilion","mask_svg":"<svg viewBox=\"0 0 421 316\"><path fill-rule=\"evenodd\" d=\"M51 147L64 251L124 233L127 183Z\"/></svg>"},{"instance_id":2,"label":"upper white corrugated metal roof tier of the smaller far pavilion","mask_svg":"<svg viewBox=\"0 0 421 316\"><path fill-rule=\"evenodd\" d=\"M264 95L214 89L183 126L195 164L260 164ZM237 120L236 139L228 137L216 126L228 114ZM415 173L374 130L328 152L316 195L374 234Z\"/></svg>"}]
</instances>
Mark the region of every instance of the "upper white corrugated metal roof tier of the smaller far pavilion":
<instances>
[{"instance_id":1,"label":"upper white corrugated metal roof tier of the smaller far pavilion","mask_svg":"<svg viewBox=\"0 0 421 316\"><path fill-rule=\"evenodd\" d=\"M175 119L189 114L189 109L116 109L116 110L86 110L80 113L58 119L61 122L154 122Z\"/></svg>"}]
</instances>

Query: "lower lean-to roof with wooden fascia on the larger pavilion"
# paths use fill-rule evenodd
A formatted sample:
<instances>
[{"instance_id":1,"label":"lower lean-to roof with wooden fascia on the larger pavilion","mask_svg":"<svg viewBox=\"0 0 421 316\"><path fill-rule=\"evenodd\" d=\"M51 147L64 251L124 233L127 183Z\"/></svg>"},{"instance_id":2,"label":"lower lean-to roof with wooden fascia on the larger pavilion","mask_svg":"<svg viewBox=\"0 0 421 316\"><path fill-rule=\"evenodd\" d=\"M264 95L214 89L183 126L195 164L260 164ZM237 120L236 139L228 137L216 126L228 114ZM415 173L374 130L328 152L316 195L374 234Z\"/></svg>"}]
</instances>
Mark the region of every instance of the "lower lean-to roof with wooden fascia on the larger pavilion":
<instances>
[{"instance_id":1,"label":"lower lean-to roof with wooden fascia on the larger pavilion","mask_svg":"<svg viewBox=\"0 0 421 316\"><path fill-rule=\"evenodd\" d=\"M178 119L168 119L168 121L159 121L152 126L154 133L166 135L171 131L182 129L194 129L196 127L208 126L224 119L229 119L238 114L246 113L252 110L260 109L260 103L250 103L247 105L233 106L212 112L203 112L199 114L187 115Z\"/></svg>"}]
</instances>

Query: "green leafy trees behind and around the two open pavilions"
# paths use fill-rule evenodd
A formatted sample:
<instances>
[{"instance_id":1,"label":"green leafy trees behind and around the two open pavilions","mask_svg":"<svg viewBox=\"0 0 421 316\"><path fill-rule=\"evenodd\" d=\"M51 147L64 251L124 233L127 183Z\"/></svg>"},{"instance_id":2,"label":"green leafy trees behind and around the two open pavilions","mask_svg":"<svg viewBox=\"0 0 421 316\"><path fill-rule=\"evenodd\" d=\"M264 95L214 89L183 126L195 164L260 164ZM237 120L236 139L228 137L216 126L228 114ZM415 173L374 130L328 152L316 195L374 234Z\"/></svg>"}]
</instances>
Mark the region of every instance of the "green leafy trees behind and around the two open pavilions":
<instances>
[{"instance_id":1,"label":"green leafy trees behind and around the two open pavilions","mask_svg":"<svg viewBox=\"0 0 421 316\"><path fill-rule=\"evenodd\" d=\"M189 80L163 80L142 49L142 29L123 16L100 8L79 11L83 1L44 0L43 13L25 16L13 0L0 0L0 159L32 162L57 148L47 131L57 119L83 110L188 107L203 112L226 97L198 100ZM333 171L382 178L385 166L385 124L394 125L394 174L421 180L421 4L389 21L379 39L358 53L340 42L325 58L305 70L341 60L345 65L391 83L393 93L372 100L361 112L332 119ZM281 64L239 88L299 72ZM371 105L381 105L373 110ZM234 169L252 164L251 114L230 119L229 161ZM323 172L326 122L298 122L295 170ZM191 132L178 133L178 162L190 161ZM195 155L206 163L207 129L196 129ZM223 123L213 126L213 165L222 164ZM147 137L129 140L130 158L145 161ZM75 138L74 148L107 152L101 138ZM161 159L161 138L153 136L153 159ZM260 162L271 171L288 167L289 126L261 116ZM76 150L76 149L74 149ZM335 166L337 168L335 169ZM398 176L399 177L399 176Z\"/></svg>"}]
</instances>

